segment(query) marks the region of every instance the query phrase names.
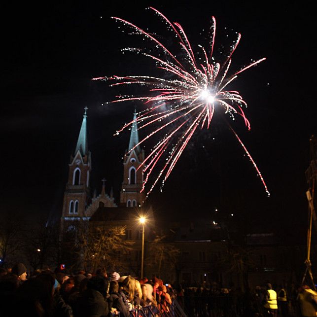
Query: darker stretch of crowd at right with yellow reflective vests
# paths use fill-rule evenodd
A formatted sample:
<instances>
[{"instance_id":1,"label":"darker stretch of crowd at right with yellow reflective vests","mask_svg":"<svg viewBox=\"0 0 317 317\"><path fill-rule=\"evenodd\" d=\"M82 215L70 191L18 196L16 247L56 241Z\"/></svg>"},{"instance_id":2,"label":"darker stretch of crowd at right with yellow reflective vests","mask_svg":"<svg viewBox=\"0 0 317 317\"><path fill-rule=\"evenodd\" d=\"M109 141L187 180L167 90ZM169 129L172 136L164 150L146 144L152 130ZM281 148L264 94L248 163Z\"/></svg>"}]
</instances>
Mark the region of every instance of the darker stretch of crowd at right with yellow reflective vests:
<instances>
[{"instance_id":1,"label":"darker stretch of crowd at right with yellow reflective vests","mask_svg":"<svg viewBox=\"0 0 317 317\"><path fill-rule=\"evenodd\" d=\"M188 316L202 317L312 317L317 316L317 292L308 285L289 287L267 283L247 287L176 289L177 300ZM180 293L178 293L180 291Z\"/></svg>"}]
</instances>

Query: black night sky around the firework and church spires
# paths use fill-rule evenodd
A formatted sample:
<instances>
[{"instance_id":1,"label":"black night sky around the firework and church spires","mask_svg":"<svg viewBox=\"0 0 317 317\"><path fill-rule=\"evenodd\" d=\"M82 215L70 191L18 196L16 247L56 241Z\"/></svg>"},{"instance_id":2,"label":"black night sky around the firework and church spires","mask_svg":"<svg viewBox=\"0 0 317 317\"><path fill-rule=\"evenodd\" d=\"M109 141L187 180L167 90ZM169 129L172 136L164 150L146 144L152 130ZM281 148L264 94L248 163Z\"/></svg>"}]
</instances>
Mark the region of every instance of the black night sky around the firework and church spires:
<instances>
[{"instance_id":1,"label":"black night sky around the firework and church spires","mask_svg":"<svg viewBox=\"0 0 317 317\"><path fill-rule=\"evenodd\" d=\"M142 105L101 106L115 92L91 78L151 71L146 61L121 54L121 48L138 40L122 33L110 17L164 35L164 25L145 10L152 5L179 22L193 45L206 44L207 33L202 30L208 30L212 15L217 21L216 47L225 43L226 34L233 40L235 32L241 33L233 69L250 59L267 58L233 84L247 101L251 130L238 118L235 122L226 119L247 146L271 197L267 198L256 171L219 115L210 130L193 137L163 193L157 188L149 202L158 214L169 217L194 215L209 221L218 208L223 216L234 213L235 221L247 223L249 229L265 219L272 226L268 230L281 224L289 231L299 224L305 227L305 170L317 115L312 8L305 2L288 1L274 5L254 1L91 2L28 2L2 10L0 212L60 215L69 157L85 106L89 108L92 188L100 191L101 179L106 177L106 191L113 186L118 202L121 157L129 132L118 137L113 133L132 118L135 106L141 109Z\"/></svg>"}]
</instances>

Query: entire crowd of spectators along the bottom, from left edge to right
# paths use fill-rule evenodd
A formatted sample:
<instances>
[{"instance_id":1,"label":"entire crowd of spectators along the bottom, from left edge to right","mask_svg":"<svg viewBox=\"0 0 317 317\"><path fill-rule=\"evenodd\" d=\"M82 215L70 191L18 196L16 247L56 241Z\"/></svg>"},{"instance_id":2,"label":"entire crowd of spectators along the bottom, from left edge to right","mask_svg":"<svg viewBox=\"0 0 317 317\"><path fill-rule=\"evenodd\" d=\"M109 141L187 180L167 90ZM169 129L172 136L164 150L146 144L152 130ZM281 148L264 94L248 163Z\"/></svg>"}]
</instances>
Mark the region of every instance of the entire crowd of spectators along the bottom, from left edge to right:
<instances>
[{"instance_id":1,"label":"entire crowd of spectators along the bottom, from left edge to right","mask_svg":"<svg viewBox=\"0 0 317 317\"><path fill-rule=\"evenodd\" d=\"M175 316L175 301L189 317L317 316L315 290L307 285L285 289L269 283L244 292L216 283L174 289L157 278L120 276L105 268L94 274L69 274L63 265L54 272L45 268L28 276L25 265L17 263L9 270L0 268L0 316ZM139 310L142 315L136 314Z\"/></svg>"}]
</instances>

